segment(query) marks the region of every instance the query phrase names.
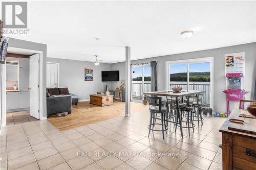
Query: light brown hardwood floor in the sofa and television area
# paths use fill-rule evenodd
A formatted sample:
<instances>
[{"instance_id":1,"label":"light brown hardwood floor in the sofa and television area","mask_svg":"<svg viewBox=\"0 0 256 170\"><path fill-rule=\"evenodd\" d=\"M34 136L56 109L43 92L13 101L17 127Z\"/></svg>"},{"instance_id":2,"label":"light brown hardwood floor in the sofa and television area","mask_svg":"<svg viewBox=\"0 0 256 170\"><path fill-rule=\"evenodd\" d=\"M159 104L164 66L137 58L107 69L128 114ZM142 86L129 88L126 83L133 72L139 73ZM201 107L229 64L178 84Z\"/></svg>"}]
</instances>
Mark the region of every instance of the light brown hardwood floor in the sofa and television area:
<instances>
[{"instance_id":1,"label":"light brown hardwood floor in the sofa and television area","mask_svg":"<svg viewBox=\"0 0 256 170\"><path fill-rule=\"evenodd\" d=\"M139 113L145 109L148 109L147 105L135 102L131 103L131 112L133 114ZM125 103L117 100L114 100L114 105L104 107L92 105L89 102L79 102L78 105L72 106L72 112L68 116L58 117L54 115L47 120L58 130L63 131L101 122L114 117L124 116L124 114Z\"/></svg>"}]
</instances>

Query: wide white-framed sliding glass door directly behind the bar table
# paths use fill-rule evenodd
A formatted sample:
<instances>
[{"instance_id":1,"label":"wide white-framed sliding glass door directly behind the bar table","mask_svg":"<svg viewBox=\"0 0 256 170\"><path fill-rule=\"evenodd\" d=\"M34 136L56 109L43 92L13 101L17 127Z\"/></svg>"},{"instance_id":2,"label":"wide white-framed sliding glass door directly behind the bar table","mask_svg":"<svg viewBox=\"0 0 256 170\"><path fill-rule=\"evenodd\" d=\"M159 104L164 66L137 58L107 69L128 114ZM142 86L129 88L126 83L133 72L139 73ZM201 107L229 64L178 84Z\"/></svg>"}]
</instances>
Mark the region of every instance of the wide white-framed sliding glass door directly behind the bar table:
<instances>
[{"instance_id":1,"label":"wide white-framed sliding glass door directly behind the bar table","mask_svg":"<svg viewBox=\"0 0 256 170\"><path fill-rule=\"evenodd\" d=\"M166 62L166 89L182 87L185 90L202 90L203 102L207 106L212 105L212 58L180 60Z\"/></svg>"}]
</instances>

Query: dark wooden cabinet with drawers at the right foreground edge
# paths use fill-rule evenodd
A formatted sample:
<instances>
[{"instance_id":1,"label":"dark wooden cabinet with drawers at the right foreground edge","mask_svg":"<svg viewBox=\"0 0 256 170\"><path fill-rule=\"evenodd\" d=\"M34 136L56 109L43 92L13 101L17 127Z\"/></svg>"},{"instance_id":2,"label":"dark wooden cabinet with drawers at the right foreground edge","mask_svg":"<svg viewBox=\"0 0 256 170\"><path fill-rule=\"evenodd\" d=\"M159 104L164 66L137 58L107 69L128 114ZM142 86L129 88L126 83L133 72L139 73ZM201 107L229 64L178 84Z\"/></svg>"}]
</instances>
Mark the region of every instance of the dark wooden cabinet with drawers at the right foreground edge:
<instances>
[{"instance_id":1,"label":"dark wooden cabinet with drawers at the right foreground edge","mask_svg":"<svg viewBox=\"0 0 256 170\"><path fill-rule=\"evenodd\" d=\"M239 117L240 114L249 114L247 111L234 109L228 119ZM245 124L240 124L241 131L230 130L226 120L220 129L222 132L222 162L223 169L256 169L256 135L245 133L255 131L256 119L244 118Z\"/></svg>"}]
</instances>

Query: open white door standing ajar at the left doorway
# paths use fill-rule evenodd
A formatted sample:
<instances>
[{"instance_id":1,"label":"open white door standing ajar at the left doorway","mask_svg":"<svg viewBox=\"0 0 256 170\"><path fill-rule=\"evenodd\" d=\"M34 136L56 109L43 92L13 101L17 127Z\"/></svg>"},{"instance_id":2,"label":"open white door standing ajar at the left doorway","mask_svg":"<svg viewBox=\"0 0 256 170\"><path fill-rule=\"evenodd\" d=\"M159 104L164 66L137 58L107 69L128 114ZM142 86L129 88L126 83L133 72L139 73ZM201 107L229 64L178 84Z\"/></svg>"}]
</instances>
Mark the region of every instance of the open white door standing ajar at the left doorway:
<instances>
[{"instance_id":1,"label":"open white door standing ajar at the left doorway","mask_svg":"<svg viewBox=\"0 0 256 170\"><path fill-rule=\"evenodd\" d=\"M29 67L30 115L39 119L39 54L30 56Z\"/></svg>"}]
</instances>

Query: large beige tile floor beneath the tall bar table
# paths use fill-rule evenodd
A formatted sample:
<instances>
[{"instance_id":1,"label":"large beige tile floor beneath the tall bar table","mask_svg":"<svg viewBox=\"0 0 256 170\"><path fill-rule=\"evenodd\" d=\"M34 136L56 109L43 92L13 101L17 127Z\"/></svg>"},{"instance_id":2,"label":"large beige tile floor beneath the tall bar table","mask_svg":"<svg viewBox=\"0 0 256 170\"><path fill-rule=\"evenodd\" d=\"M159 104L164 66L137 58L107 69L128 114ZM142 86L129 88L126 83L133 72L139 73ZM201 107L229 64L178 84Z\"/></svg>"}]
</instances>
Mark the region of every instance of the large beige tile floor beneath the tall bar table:
<instances>
[{"instance_id":1,"label":"large beige tile floor beneath the tall bar table","mask_svg":"<svg viewBox=\"0 0 256 170\"><path fill-rule=\"evenodd\" d=\"M170 124L164 140L147 137L148 119L145 110L62 132L47 120L8 125L0 133L0 169L222 169L225 118L205 117L183 139Z\"/></svg>"}]
</instances>

